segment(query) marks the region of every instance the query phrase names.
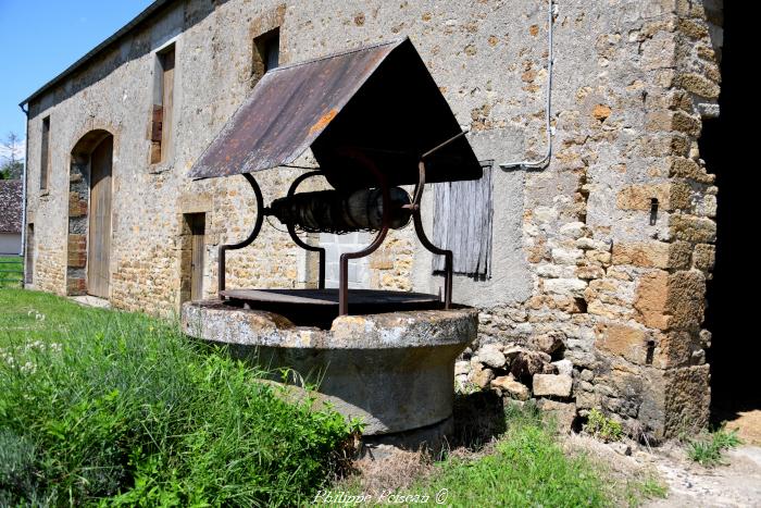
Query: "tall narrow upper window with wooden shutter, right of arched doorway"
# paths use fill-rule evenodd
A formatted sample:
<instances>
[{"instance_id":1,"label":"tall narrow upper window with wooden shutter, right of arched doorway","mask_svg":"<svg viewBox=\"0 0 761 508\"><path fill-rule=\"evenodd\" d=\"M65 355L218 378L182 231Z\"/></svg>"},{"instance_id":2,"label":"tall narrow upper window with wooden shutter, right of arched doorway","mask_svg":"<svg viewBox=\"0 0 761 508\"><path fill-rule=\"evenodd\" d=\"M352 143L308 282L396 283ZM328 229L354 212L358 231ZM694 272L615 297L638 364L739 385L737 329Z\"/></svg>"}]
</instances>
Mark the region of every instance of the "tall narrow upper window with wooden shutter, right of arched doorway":
<instances>
[{"instance_id":1,"label":"tall narrow upper window with wooden shutter, right of arched doorway","mask_svg":"<svg viewBox=\"0 0 761 508\"><path fill-rule=\"evenodd\" d=\"M153 111L151 116L151 164L164 160L172 137L172 110L174 106L174 45L157 53L157 79L154 80Z\"/></svg>"}]
</instances>

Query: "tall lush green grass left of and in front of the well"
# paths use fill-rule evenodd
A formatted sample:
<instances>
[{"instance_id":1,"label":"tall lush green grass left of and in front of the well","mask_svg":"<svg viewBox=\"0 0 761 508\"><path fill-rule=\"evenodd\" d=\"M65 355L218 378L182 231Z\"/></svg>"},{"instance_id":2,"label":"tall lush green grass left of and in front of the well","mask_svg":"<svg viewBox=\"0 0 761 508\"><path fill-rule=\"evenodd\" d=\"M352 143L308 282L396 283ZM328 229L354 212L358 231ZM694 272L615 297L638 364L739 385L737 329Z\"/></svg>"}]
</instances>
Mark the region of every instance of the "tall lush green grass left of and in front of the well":
<instances>
[{"instance_id":1,"label":"tall lush green grass left of and in front of the well","mask_svg":"<svg viewBox=\"0 0 761 508\"><path fill-rule=\"evenodd\" d=\"M176 325L0 289L0 506L286 506L352 431Z\"/></svg>"}]
</instances>

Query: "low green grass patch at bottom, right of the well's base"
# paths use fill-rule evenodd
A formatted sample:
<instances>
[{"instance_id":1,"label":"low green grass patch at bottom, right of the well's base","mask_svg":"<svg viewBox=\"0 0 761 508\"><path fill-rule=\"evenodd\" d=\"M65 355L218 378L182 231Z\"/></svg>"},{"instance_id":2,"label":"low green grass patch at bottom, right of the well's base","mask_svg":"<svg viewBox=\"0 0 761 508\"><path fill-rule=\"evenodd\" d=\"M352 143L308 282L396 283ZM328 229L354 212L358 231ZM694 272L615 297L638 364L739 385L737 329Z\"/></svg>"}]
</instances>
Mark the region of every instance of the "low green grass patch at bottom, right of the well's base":
<instances>
[{"instance_id":1,"label":"low green grass patch at bottom, right of the well's base","mask_svg":"<svg viewBox=\"0 0 761 508\"><path fill-rule=\"evenodd\" d=\"M442 500L452 507L636 507L644 499L665 496L665 486L651 475L614 476L591 456L565 450L554 423L542 420L534 405L508 406L506 429L492 446L473 457L445 457L409 488L365 492L361 479L349 478L317 500L329 505L344 495L372 496L364 505ZM408 471L402 467L401 474Z\"/></svg>"}]
</instances>

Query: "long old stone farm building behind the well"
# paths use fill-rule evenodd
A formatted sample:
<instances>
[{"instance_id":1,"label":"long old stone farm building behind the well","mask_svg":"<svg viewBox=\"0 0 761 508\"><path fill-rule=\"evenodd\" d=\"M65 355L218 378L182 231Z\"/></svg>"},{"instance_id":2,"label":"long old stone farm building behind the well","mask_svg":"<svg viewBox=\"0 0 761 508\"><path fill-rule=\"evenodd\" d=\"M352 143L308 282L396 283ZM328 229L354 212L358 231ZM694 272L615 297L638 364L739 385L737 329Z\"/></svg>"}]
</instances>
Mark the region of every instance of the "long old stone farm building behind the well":
<instances>
[{"instance_id":1,"label":"long old stone farm building behind the well","mask_svg":"<svg viewBox=\"0 0 761 508\"><path fill-rule=\"evenodd\" d=\"M550 53L546 0L158 0L23 102L27 280L151 313L212 297L217 247L248 234L253 197L241 177L188 178L194 162L267 69L408 36L490 169L490 201L474 203L491 213L489 268L454 281L483 310L474 348L569 360L573 394L548 400L582 416L601 407L654 437L702 425L718 187L701 126L719 116L722 16L720 0L559 0ZM548 150L550 84L551 156L521 165ZM267 200L298 171L263 173ZM364 239L311 240L335 262ZM351 282L436 293L433 263L408 227ZM227 277L316 273L265 227Z\"/></svg>"}]
</instances>

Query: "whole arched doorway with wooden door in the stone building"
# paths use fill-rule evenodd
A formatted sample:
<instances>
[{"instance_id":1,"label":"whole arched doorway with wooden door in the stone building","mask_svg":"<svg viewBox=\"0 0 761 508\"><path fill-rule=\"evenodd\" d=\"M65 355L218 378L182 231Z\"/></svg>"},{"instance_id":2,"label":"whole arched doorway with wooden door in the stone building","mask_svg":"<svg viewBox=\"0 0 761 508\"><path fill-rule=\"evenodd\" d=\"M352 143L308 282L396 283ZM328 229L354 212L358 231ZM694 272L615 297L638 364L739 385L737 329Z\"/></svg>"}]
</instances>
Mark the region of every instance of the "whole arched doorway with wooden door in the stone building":
<instances>
[{"instance_id":1,"label":"whole arched doorway with wooden door in the stone building","mask_svg":"<svg viewBox=\"0 0 761 508\"><path fill-rule=\"evenodd\" d=\"M109 298L113 136L83 136L72 150L66 290Z\"/></svg>"}]
</instances>

